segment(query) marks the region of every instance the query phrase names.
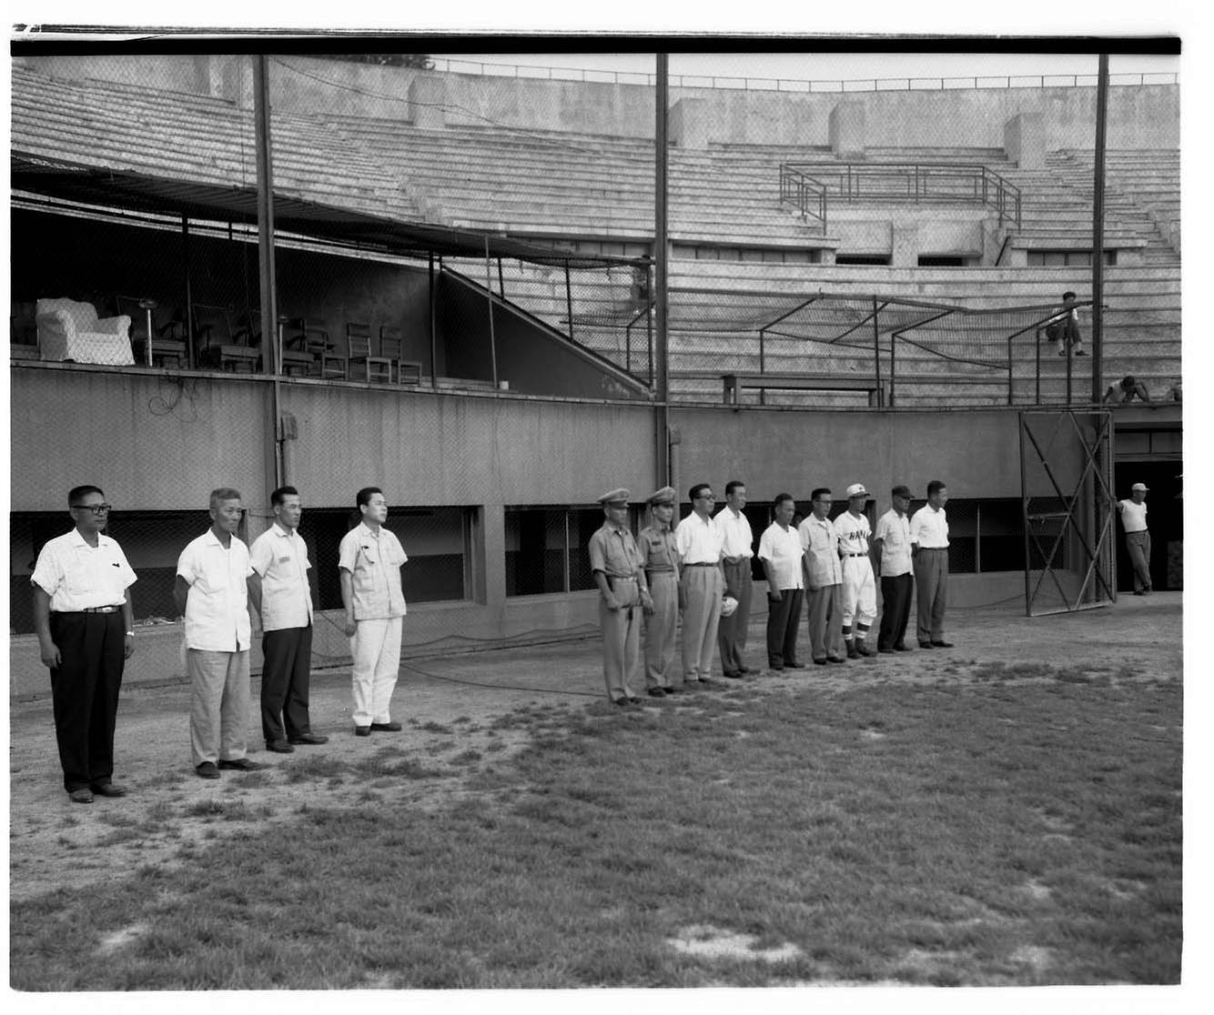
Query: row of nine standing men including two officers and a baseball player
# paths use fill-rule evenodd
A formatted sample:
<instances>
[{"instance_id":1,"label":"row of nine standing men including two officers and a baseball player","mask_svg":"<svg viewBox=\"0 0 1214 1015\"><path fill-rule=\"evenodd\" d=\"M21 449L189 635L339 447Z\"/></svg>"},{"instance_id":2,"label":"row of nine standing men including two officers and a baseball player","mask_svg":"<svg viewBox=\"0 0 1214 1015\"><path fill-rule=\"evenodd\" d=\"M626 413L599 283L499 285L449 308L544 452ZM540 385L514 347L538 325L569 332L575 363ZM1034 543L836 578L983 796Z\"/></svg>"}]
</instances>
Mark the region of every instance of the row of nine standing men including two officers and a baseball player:
<instances>
[{"instance_id":1,"label":"row of nine standing men including two officers and a baseball player","mask_svg":"<svg viewBox=\"0 0 1214 1015\"><path fill-rule=\"evenodd\" d=\"M688 491L692 512L674 525L675 491L649 495L649 524L634 537L628 528L630 492L612 490L599 498L605 520L588 551L599 587L607 695L620 706L646 691L664 697L711 685L713 651L726 678L758 673L743 652L753 591L754 535L743 508L745 484L726 484L726 506L715 515L716 496L707 483ZM809 617L812 662L844 663L879 652L909 651L906 631L910 598L918 587L917 635L921 649L948 649L944 609L948 598L948 489L927 484L927 503L909 514L910 490L895 486L892 506L873 532L863 484L847 487L847 511L833 521L827 487L811 495L811 513L793 526L796 502L779 494L775 521L759 540L767 580L767 666L800 669L798 631L802 608ZM884 609L877 645L868 632L877 620L877 581ZM676 625L681 620L682 678L675 682ZM645 649L641 631L645 628Z\"/></svg>"}]
</instances>

